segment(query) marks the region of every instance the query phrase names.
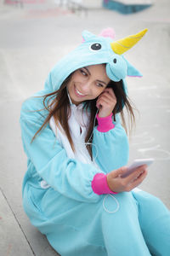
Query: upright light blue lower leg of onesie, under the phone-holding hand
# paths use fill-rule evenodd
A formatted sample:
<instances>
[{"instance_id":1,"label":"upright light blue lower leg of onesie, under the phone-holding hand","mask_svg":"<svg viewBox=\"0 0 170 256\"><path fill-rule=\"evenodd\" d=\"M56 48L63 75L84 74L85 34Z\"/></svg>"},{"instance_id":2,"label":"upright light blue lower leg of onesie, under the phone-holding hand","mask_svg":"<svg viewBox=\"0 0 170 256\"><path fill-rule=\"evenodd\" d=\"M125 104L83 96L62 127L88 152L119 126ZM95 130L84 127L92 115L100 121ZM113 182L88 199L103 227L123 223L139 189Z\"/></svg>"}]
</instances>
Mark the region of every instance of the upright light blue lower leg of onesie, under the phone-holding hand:
<instances>
[{"instance_id":1,"label":"upright light blue lower leg of onesie, under the phone-holding hand","mask_svg":"<svg viewBox=\"0 0 170 256\"><path fill-rule=\"evenodd\" d=\"M133 195L120 193L114 197L119 202L118 211L111 213L114 211L114 204L117 203L112 195L106 195L105 211L102 216L108 256L149 256L150 252L140 229L138 207Z\"/></svg>"}]
</instances>

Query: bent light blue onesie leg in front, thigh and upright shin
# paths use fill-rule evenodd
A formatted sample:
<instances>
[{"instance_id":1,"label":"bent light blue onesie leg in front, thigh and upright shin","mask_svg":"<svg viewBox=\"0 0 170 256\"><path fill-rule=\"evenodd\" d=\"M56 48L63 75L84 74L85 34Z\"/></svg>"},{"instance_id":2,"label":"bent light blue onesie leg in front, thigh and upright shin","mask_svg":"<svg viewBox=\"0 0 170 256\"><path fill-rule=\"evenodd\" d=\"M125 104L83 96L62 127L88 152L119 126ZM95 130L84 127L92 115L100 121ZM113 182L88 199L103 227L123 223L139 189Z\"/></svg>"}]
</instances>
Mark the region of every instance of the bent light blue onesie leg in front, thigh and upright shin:
<instances>
[{"instance_id":1,"label":"bent light blue onesie leg in front, thigh and upright shin","mask_svg":"<svg viewBox=\"0 0 170 256\"><path fill-rule=\"evenodd\" d=\"M24 201L31 223L62 256L150 256L132 193L114 196L85 203L30 187Z\"/></svg>"}]
</instances>

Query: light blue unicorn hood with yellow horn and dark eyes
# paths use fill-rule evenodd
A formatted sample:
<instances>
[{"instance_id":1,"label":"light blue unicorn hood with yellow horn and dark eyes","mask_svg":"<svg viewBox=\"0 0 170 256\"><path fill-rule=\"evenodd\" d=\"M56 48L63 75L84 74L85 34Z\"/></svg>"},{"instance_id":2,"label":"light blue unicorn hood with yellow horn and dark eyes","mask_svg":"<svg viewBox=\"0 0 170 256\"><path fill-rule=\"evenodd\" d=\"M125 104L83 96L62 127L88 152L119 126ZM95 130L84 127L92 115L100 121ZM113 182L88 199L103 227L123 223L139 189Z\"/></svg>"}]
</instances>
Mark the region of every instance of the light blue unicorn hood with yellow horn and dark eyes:
<instances>
[{"instance_id":1,"label":"light blue unicorn hood with yellow horn and dark eyes","mask_svg":"<svg viewBox=\"0 0 170 256\"><path fill-rule=\"evenodd\" d=\"M138 43L145 32L147 29L114 42L107 34L95 36L91 32L83 31L82 44L58 61L48 75L45 89L50 92L58 90L65 79L78 68L105 63L108 77L115 82L122 80L127 93L126 76L141 77L142 75L122 54Z\"/></svg>"}]
</instances>

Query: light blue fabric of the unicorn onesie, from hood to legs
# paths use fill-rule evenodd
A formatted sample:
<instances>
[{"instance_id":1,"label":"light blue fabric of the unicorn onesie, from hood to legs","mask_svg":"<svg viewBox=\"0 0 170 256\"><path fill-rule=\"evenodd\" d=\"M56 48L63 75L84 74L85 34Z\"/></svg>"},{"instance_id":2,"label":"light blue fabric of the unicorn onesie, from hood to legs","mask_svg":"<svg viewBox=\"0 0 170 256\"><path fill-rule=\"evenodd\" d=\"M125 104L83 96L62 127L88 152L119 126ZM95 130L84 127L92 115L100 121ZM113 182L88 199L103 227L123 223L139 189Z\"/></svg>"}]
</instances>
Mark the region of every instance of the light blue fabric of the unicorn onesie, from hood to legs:
<instances>
[{"instance_id":1,"label":"light blue fabric of the unicorn onesie, from hood to legs","mask_svg":"<svg viewBox=\"0 0 170 256\"><path fill-rule=\"evenodd\" d=\"M111 38L83 32L84 43L59 61L49 73L43 96L54 90L77 68L106 63L110 79L124 82L139 72L111 49ZM92 45L97 47L92 47ZM98 46L101 47L98 47ZM116 59L116 61L113 61ZM144 191L97 195L91 182L99 172L127 165L128 142L120 119L115 128L94 127L95 163L71 157L64 140L48 124L31 143L48 115L42 97L23 103L22 141L28 157L23 183L23 205L31 224L45 234L61 256L169 256L170 213L156 197Z\"/></svg>"}]
</instances>

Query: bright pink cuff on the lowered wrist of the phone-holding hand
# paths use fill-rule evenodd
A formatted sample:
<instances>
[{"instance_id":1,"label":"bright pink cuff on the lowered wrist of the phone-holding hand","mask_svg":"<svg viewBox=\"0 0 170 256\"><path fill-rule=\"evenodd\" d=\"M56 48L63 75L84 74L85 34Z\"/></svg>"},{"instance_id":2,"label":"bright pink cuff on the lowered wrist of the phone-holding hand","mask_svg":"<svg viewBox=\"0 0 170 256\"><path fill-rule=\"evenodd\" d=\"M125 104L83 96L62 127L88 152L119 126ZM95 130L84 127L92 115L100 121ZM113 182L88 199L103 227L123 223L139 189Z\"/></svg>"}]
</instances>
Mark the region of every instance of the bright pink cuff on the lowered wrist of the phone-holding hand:
<instances>
[{"instance_id":1,"label":"bright pink cuff on the lowered wrist of the phone-holding hand","mask_svg":"<svg viewBox=\"0 0 170 256\"><path fill-rule=\"evenodd\" d=\"M107 176L105 173L96 173L92 181L92 189L97 195L102 194L117 194L116 192L111 191L107 184Z\"/></svg>"}]
</instances>

